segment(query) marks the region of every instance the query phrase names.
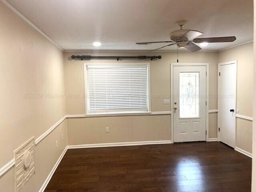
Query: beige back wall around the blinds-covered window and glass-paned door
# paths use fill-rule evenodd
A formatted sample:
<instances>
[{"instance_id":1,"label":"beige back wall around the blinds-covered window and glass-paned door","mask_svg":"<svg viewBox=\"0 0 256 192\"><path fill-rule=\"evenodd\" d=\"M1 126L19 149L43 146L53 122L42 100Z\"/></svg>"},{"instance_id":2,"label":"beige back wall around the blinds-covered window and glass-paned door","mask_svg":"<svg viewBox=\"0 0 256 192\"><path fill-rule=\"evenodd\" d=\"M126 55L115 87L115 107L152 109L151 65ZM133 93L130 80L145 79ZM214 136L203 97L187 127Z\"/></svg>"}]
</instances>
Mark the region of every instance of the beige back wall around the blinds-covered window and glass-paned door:
<instances>
[{"instance_id":1,"label":"beige back wall around the blinds-covered window and glass-paned door","mask_svg":"<svg viewBox=\"0 0 256 192\"><path fill-rule=\"evenodd\" d=\"M161 55L160 60L72 60L74 55ZM151 78L151 111L170 111L169 104L163 104L164 98L170 98L170 63L176 63L175 52L154 52L151 54L131 52L65 52L65 84L67 114L85 114L84 95L84 62L150 62ZM217 72L218 53L216 52L182 52L179 62L209 63L209 90L212 97L209 101L210 109L217 109ZM76 97L76 98L75 98ZM216 114L209 114L210 138L217 137ZM106 142L136 142L152 140L171 140L170 115L157 116L116 116L98 118L69 118L68 144L93 144ZM110 132L105 133L109 127ZM125 134L124 134L125 133Z\"/></svg>"}]
</instances>

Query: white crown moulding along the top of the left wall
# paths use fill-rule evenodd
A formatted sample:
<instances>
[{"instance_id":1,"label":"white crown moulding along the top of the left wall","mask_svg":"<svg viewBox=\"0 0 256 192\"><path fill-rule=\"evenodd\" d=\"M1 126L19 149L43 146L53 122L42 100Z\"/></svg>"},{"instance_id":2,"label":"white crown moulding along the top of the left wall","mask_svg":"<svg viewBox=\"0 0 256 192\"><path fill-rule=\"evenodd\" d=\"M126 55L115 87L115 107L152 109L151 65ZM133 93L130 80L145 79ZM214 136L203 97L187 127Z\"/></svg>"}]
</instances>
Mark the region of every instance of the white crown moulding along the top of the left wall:
<instances>
[{"instance_id":1,"label":"white crown moulding along the top of the left wall","mask_svg":"<svg viewBox=\"0 0 256 192\"><path fill-rule=\"evenodd\" d=\"M33 24L28 18L26 18L24 15L22 15L16 8L14 8L10 3L8 3L6 0L0 0L3 4L5 4L10 10L12 10L14 13L16 13L20 18L22 18L26 23L28 23L32 28L37 30L42 36L44 36L46 39L48 39L52 44L54 44L58 49L63 49L56 43L54 40L52 40L48 35L46 35L42 30L40 30L35 24Z\"/></svg>"}]
</instances>

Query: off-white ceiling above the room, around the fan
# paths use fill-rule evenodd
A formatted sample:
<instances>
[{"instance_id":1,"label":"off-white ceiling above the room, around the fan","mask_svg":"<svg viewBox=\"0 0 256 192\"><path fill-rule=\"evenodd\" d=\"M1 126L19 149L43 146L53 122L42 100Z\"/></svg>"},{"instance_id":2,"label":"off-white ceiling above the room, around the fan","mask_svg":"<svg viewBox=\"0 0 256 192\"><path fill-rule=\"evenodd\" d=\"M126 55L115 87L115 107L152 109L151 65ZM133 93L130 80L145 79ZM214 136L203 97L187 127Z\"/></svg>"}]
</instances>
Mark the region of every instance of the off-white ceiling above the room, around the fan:
<instances>
[{"instance_id":1,"label":"off-white ceiling above the room, around the fan","mask_svg":"<svg viewBox=\"0 0 256 192\"><path fill-rule=\"evenodd\" d=\"M221 50L253 40L253 0L7 0L64 50L150 50L170 40L177 20L200 37L236 36L202 50ZM94 47L93 42L102 43ZM165 50L176 50L176 46Z\"/></svg>"}]
</instances>

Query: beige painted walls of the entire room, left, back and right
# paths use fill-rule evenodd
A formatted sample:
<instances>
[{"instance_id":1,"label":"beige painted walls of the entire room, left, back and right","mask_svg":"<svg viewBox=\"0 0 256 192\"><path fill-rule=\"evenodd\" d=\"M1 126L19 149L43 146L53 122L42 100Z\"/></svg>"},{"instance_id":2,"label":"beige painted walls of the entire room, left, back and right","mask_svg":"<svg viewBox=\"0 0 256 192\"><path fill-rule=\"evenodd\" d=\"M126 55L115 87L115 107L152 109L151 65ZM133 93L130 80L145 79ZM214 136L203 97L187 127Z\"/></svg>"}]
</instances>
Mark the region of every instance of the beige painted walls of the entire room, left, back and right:
<instances>
[{"instance_id":1,"label":"beige painted walls of the entire room, left, back and right","mask_svg":"<svg viewBox=\"0 0 256 192\"><path fill-rule=\"evenodd\" d=\"M151 111L170 111L163 99L170 98L170 63L175 52L65 52L32 29L0 2L0 167L13 158L13 151L26 140L38 138L65 114L85 114L84 62L117 62L106 60L76 61L72 54L87 55L162 55L151 63ZM209 74L209 109L217 109L218 62L238 60L237 107L240 114L252 116L252 43L222 52L182 52L180 63L207 62ZM120 61L119 61L120 62ZM124 60L121 62L138 62ZM248 83L249 82L249 83ZM246 92L247 94L243 94ZM66 94L66 99L46 98L46 94ZM32 98L26 98L32 96ZM38 98L33 98L37 96ZM171 139L170 115L69 118L36 146L36 174L21 192L40 189L67 144L136 142ZM105 133L105 127L110 128ZM67 129L68 127L68 129ZM238 147L252 151L252 123L237 119ZM64 140L61 140L64 134ZM255 135L255 134L254 134ZM209 114L209 137L217 137L217 114ZM254 136L254 139L256 136ZM58 148L55 141L58 141ZM255 139L256 142L256 139ZM254 145L255 148L256 144ZM255 149L254 149L255 150ZM51 157L51 158L49 158ZM0 190L14 191L14 168L0 177Z\"/></svg>"}]
</instances>

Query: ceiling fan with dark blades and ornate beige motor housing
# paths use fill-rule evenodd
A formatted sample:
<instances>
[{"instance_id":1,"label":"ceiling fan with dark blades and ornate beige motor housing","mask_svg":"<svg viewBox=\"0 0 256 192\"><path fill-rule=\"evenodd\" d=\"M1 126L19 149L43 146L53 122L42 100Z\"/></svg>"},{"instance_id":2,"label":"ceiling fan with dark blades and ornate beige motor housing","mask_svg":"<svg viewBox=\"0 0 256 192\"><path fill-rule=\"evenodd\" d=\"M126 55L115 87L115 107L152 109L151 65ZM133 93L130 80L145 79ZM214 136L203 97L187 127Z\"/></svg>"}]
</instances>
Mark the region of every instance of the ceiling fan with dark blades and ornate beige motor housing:
<instances>
[{"instance_id":1,"label":"ceiling fan with dark blades and ornate beige motor housing","mask_svg":"<svg viewBox=\"0 0 256 192\"><path fill-rule=\"evenodd\" d=\"M158 50L167 46L171 45L177 45L178 48L186 48L192 52L199 51L200 48L194 43L220 43L220 42L233 42L236 40L235 36L229 36L229 37L210 37L210 38L197 38L203 33L196 30L190 30L190 29L182 29L182 27L186 24L187 20L180 20L176 23L178 26L180 26L179 30L172 31L170 33L170 38L172 41L156 41L156 42L137 42L136 44L139 45L146 45L146 44L152 44L152 43L171 43L166 46L162 46L160 48L154 49ZM154 51L154 50L150 50Z\"/></svg>"}]
</instances>

